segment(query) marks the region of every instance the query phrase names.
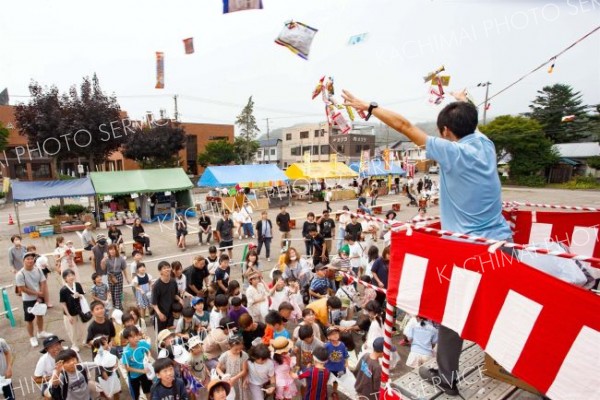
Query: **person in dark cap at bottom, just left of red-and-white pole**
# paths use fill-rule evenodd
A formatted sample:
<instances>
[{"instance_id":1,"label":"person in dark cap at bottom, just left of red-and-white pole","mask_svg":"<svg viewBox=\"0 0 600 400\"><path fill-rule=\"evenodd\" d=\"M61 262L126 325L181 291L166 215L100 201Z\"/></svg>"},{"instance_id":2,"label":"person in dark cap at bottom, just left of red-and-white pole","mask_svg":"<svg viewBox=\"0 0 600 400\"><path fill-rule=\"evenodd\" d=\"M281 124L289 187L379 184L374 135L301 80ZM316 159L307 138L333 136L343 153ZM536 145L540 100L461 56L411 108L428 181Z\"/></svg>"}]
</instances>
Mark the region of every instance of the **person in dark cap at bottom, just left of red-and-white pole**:
<instances>
[{"instance_id":1,"label":"person in dark cap at bottom, just left of red-and-white pole","mask_svg":"<svg viewBox=\"0 0 600 400\"><path fill-rule=\"evenodd\" d=\"M379 359L383 356L383 344L382 337L375 339L373 341L373 352L365 354L358 362L354 389L361 398L379 399L382 372ZM392 346L391 351L395 352L396 347Z\"/></svg>"}]
</instances>

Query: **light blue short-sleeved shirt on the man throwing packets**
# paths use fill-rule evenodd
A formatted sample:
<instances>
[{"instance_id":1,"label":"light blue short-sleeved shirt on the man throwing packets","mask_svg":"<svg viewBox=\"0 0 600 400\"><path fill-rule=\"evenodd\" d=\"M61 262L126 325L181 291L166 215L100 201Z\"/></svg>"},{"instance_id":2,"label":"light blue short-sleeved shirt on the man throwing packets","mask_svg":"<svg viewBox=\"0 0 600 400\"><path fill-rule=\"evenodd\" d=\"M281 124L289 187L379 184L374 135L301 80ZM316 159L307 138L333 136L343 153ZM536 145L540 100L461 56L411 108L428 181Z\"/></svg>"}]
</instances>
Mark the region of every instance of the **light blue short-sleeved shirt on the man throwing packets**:
<instances>
[{"instance_id":1,"label":"light blue short-sleeved shirt on the man throwing packets","mask_svg":"<svg viewBox=\"0 0 600 400\"><path fill-rule=\"evenodd\" d=\"M502 216L494 143L480 132L457 142L427 138L427 157L440 164L442 229L504 240L512 237Z\"/></svg>"}]
</instances>

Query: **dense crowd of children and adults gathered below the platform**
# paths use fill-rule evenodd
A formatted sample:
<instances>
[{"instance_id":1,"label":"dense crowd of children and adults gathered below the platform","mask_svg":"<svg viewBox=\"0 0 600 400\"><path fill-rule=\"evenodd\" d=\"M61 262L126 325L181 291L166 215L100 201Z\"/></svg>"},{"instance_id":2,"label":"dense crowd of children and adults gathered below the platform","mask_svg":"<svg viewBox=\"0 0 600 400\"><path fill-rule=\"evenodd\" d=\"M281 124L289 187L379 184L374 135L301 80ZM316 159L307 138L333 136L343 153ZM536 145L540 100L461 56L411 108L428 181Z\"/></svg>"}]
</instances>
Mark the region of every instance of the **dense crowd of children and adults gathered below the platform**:
<instances>
[{"instance_id":1,"label":"dense crowd of children and adults gathered below the platform","mask_svg":"<svg viewBox=\"0 0 600 400\"><path fill-rule=\"evenodd\" d=\"M330 255L333 240L322 235L321 226L333 231L335 225L323 219L326 214L308 215L303 229L308 253L283 241L271 271L254 246L243 268L232 265L228 252L210 246L208 257L194 257L187 268L161 261L156 276L134 251L128 268L120 268L131 277L135 299L127 307L125 296L115 299L118 292L101 273L91 276L91 287L82 287L69 243L61 241L60 306L71 348L55 354L46 394L65 400L83 399L88 391L118 399L123 390L136 400L142 393L157 400L337 399L338 382L344 387L350 382L357 394L376 398L385 297L356 280L385 287L389 248L380 256L373 233L378 229L352 217L338 230L344 236L337 255ZM404 334L411 345L408 366L433 357L437 333L430 322L412 318ZM83 365L73 361L81 359L83 346L92 348L94 362L81 378L72 365ZM10 365L10 348L1 341L0 351ZM0 359L2 372L11 371ZM92 381L97 385L88 385Z\"/></svg>"}]
</instances>

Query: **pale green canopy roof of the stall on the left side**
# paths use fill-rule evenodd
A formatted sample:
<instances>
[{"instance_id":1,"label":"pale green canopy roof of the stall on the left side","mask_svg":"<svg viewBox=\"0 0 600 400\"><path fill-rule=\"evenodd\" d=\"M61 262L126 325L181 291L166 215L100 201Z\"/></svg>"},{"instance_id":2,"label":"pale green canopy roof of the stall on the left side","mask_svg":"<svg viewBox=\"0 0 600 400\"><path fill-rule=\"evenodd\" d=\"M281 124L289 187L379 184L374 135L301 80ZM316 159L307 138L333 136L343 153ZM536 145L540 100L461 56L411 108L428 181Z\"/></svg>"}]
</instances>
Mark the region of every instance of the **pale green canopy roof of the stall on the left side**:
<instances>
[{"instance_id":1,"label":"pale green canopy roof of the stall on the left side","mask_svg":"<svg viewBox=\"0 0 600 400\"><path fill-rule=\"evenodd\" d=\"M98 195L178 192L194 187L181 168L92 172L90 178Z\"/></svg>"}]
</instances>

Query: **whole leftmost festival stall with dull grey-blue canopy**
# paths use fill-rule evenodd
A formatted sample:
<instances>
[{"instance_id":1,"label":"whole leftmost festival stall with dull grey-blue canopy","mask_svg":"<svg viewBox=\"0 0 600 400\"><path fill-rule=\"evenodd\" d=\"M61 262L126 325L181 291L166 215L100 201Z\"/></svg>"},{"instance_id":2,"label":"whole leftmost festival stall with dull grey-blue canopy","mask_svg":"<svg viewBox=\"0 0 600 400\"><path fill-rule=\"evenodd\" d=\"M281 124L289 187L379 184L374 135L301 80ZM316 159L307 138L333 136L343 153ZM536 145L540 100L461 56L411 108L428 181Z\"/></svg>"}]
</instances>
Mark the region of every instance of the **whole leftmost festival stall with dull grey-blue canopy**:
<instances>
[{"instance_id":1,"label":"whole leftmost festival stall with dull grey-blue canopy","mask_svg":"<svg viewBox=\"0 0 600 400\"><path fill-rule=\"evenodd\" d=\"M35 181L21 182L12 181L12 196L15 206L15 215L19 234L21 234L21 220L19 218L19 206L25 203L25 207L37 200L81 198L86 204L89 197L94 196L95 191L89 178L71 179L63 181ZM83 230L84 223L94 223L94 217L90 213L80 215L55 216L42 223L24 227L24 233L31 237L50 236L54 233L73 232Z\"/></svg>"}]
</instances>

